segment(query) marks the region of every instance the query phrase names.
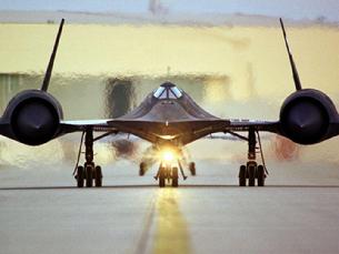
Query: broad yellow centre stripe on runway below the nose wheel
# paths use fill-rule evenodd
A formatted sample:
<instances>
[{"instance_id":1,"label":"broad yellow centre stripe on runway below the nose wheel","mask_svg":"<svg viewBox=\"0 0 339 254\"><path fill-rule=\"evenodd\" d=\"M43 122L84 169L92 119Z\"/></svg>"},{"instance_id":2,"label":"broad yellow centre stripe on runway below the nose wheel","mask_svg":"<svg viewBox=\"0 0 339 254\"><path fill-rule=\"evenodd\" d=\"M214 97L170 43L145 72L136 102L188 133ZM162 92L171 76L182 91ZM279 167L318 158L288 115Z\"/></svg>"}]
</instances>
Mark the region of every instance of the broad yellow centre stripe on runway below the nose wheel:
<instances>
[{"instance_id":1,"label":"broad yellow centre stripe on runway below the nose wheel","mask_svg":"<svg viewBox=\"0 0 339 254\"><path fill-rule=\"evenodd\" d=\"M157 199L157 227L153 253L191 253L190 234L187 222L178 205L176 189L161 189Z\"/></svg>"}]
</instances>

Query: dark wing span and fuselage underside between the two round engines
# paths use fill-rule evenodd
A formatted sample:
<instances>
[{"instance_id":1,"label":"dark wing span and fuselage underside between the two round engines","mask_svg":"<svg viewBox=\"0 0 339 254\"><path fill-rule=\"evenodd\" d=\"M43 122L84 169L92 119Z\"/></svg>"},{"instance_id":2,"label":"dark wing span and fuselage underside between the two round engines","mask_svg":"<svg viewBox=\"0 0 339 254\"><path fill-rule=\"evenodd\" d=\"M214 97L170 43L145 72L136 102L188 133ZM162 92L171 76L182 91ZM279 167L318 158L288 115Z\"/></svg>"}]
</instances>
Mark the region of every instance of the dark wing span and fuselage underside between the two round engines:
<instances>
[{"instance_id":1,"label":"dark wing span and fuselage underside between the two round engines","mask_svg":"<svg viewBox=\"0 0 339 254\"><path fill-rule=\"evenodd\" d=\"M152 143L161 140L179 140L181 144L188 144L212 133L246 132L250 128L256 131L280 134L279 122L277 121L207 119L161 122L111 119L62 121L59 135L92 129L96 132L130 133Z\"/></svg>"}]
</instances>

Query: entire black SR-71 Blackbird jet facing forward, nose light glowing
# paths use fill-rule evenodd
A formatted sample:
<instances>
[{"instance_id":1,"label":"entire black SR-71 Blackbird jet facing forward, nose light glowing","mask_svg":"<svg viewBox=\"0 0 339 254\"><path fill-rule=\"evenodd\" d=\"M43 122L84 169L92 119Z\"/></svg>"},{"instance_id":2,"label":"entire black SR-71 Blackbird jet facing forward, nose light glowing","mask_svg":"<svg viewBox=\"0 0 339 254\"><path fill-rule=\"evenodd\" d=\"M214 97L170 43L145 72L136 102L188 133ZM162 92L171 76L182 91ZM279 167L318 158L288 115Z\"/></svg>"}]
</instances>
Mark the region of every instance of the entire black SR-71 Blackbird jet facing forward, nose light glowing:
<instances>
[{"instance_id":1,"label":"entire black SR-71 Blackbird jet facing forward, nose light glowing","mask_svg":"<svg viewBox=\"0 0 339 254\"><path fill-rule=\"evenodd\" d=\"M52 54L40 90L26 90L9 102L0 119L0 134L27 145L40 145L71 132L82 132L84 138L84 164L79 165L78 155L74 175L77 185L88 187L102 185L102 172L93 162L93 142L117 133L129 133L149 141L159 153L160 166L154 179L159 186L167 182L178 186L179 173L187 176L182 166L182 148L211 133L228 133L248 143L248 162L240 166L239 185L265 185L265 163L257 164L256 149L259 132L272 132L299 144L316 144L339 134L339 118L335 104L323 92L302 89L290 52L283 22L280 26L291 65L296 91L282 103L278 121L229 120L217 118L201 109L185 91L171 82L162 83L130 113L110 120L63 121L62 108L47 92L64 20L61 20ZM101 132L97 138L93 132ZM245 134L243 134L245 133ZM262 153L261 153L262 156ZM263 162L263 160L262 160ZM140 162L143 175L149 163ZM196 164L189 163L192 175Z\"/></svg>"}]
</instances>

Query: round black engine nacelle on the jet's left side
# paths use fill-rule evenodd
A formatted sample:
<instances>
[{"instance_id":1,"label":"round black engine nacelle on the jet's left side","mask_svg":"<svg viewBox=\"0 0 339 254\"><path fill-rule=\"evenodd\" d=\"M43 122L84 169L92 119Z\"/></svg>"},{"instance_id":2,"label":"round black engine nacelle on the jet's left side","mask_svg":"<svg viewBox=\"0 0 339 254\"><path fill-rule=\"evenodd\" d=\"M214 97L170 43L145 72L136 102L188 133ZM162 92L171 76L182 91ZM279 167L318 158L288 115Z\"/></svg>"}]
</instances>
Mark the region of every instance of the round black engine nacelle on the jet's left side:
<instances>
[{"instance_id":1,"label":"round black engine nacelle on the jet's left side","mask_svg":"<svg viewBox=\"0 0 339 254\"><path fill-rule=\"evenodd\" d=\"M51 94L40 90L18 93L8 104L4 119L9 120L9 138L29 145L52 140L63 118L60 103Z\"/></svg>"}]
</instances>

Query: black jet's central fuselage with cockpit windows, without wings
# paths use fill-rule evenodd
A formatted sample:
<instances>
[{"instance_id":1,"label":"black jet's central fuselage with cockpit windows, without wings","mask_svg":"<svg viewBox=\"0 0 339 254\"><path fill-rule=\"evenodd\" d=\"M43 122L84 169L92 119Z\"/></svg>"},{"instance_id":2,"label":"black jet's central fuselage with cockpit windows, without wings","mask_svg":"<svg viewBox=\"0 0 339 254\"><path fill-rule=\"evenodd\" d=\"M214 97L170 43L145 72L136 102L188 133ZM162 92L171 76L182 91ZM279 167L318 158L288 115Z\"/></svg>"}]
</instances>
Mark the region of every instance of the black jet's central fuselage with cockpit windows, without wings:
<instances>
[{"instance_id":1,"label":"black jet's central fuselage with cockpit windows, without wings","mask_svg":"<svg viewBox=\"0 0 339 254\"><path fill-rule=\"evenodd\" d=\"M166 82L133 111L108 124L151 143L185 145L211 130L225 130L228 121L206 112L185 91Z\"/></svg>"}]
</instances>

